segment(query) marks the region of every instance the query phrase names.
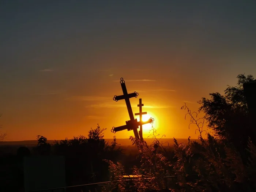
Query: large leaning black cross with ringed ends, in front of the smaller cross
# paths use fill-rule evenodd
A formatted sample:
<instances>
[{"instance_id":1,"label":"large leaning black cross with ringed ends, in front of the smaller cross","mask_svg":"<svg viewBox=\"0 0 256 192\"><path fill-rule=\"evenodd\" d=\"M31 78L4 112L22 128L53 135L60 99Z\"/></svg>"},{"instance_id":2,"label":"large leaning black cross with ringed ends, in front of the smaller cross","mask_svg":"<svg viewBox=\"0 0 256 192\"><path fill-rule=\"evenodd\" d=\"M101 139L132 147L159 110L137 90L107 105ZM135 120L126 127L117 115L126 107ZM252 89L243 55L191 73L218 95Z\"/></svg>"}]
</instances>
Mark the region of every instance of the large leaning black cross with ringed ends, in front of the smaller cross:
<instances>
[{"instance_id":1,"label":"large leaning black cross with ringed ends, in front of the smaller cross","mask_svg":"<svg viewBox=\"0 0 256 192\"><path fill-rule=\"evenodd\" d=\"M115 95L113 97L113 100L114 101L119 101L121 99L125 100L130 120L125 121L126 125L123 125L123 126L120 126L120 127L113 127L111 129L111 132L115 133L117 131L122 131L122 130L125 130L125 129L127 129L128 131L133 130L135 138L140 139L139 133L138 133L138 130L137 130L139 128L139 126L147 124L147 123L152 123L154 121L154 119L150 118L148 121L145 121L145 122L143 122L142 120L140 120L138 122L137 119L134 119L133 112L132 112L132 106L131 106L131 103L130 103L130 98L138 97L139 94L136 93L136 91L134 91L134 93L129 93L128 94L123 78L121 78L120 83L121 83L121 87L122 87L122 90L123 90L123 95L119 95L119 96Z\"/></svg>"}]
</instances>

